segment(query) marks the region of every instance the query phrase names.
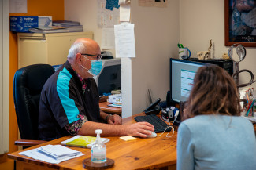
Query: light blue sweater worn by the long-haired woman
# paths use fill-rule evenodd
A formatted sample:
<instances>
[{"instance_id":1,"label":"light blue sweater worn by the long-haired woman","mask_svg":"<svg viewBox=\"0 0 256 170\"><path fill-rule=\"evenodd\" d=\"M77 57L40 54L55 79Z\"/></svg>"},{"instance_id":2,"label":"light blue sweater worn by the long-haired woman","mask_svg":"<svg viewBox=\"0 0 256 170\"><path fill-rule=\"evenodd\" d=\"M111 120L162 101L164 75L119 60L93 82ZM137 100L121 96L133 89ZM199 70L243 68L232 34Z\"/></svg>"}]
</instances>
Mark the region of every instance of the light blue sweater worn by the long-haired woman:
<instances>
[{"instance_id":1,"label":"light blue sweater worn by the long-haired woman","mask_svg":"<svg viewBox=\"0 0 256 170\"><path fill-rule=\"evenodd\" d=\"M178 129L177 169L255 170L256 139L246 118L199 115Z\"/></svg>"}]
</instances>

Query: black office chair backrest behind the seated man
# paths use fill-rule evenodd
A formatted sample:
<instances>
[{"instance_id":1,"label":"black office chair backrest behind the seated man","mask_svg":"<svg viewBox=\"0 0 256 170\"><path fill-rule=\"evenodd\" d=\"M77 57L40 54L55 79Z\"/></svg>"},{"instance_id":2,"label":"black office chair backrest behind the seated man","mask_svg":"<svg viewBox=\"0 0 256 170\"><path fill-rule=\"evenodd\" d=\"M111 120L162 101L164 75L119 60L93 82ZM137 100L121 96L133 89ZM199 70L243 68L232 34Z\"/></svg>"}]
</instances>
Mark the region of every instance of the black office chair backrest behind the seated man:
<instances>
[{"instance_id":1,"label":"black office chair backrest behind the seated man","mask_svg":"<svg viewBox=\"0 0 256 170\"><path fill-rule=\"evenodd\" d=\"M41 90L54 68L34 64L16 71L13 80L14 105L21 139L39 139L38 118Z\"/></svg>"}]
</instances>

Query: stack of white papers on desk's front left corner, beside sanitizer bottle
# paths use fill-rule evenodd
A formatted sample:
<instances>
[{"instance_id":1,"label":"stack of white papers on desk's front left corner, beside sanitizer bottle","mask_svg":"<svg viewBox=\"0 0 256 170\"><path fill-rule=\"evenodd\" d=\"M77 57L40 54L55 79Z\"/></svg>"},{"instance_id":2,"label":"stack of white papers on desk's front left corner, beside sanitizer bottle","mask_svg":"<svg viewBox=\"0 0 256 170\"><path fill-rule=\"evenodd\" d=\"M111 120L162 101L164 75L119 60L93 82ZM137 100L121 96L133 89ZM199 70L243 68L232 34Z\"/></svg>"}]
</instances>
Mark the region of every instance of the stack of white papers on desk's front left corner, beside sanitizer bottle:
<instances>
[{"instance_id":1,"label":"stack of white papers on desk's front left corner, beside sanitizer bottle","mask_svg":"<svg viewBox=\"0 0 256 170\"><path fill-rule=\"evenodd\" d=\"M61 161L67 161L74 157L84 155L80 151L72 150L61 145L46 145L34 150L20 152L20 154L51 164L58 164Z\"/></svg>"}]
</instances>

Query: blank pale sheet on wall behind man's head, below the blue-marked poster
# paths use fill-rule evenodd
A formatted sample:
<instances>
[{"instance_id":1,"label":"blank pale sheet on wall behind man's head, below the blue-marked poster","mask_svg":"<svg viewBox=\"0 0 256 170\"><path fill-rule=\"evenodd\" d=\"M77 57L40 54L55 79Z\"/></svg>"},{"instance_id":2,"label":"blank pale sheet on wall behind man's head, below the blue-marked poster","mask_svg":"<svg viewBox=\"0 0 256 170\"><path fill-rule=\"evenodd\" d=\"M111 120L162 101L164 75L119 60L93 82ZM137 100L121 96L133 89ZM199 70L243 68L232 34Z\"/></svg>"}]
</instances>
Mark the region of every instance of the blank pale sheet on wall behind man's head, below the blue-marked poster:
<instances>
[{"instance_id":1,"label":"blank pale sheet on wall behind man's head, below the blue-marked poster","mask_svg":"<svg viewBox=\"0 0 256 170\"><path fill-rule=\"evenodd\" d=\"M102 49L114 49L115 48L115 34L113 27L102 28Z\"/></svg>"}]
</instances>

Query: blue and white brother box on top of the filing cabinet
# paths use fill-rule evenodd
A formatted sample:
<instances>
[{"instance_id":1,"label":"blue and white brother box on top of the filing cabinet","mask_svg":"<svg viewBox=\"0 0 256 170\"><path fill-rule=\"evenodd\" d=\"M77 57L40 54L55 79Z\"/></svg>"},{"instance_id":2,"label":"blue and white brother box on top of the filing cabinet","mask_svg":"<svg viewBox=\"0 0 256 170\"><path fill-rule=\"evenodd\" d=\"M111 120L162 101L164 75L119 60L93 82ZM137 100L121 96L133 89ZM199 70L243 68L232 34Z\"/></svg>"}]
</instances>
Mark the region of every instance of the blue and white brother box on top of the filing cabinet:
<instances>
[{"instance_id":1,"label":"blue and white brother box on top of the filing cabinet","mask_svg":"<svg viewBox=\"0 0 256 170\"><path fill-rule=\"evenodd\" d=\"M10 31L29 32L32 27L51 27L52 16L9 16Z\"/></svg>"}]
</instances>

